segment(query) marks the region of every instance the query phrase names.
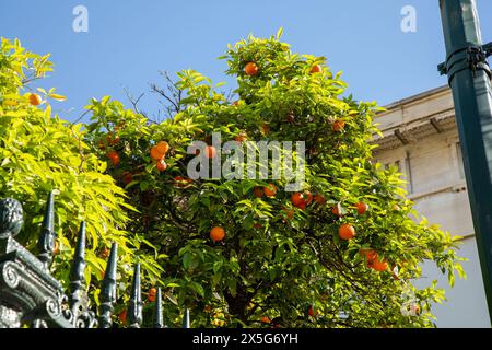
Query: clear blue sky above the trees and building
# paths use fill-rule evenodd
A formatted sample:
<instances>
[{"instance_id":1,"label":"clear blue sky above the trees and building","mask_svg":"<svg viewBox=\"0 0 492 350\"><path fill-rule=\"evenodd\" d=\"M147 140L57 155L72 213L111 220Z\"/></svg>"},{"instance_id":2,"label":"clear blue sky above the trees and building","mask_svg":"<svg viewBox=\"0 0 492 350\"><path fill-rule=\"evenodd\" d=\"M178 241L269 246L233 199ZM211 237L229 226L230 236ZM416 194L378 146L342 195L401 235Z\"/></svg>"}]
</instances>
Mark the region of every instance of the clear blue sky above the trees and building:
<instances>
[{"instance_id":1,"label":"clear blue sky above the trees and building","mask_svg":"<svg viewBox=\"0 0 492 350\"><path fill-rule=\"evenodd\" d=\"M89 32L75 33L75 5L89 10ZM400 28L401 9L417 10L417 32ZM492 40L492 1L478 0L483 40ZM50 52L55 72L43 88L68 96L56 103L73 120L91 97L124 101L161 83L160 70L192 68L214 82L231 80L216 58L227 43L270 36L284 28L294 51L326 56L343 71L358 100L380 105L446 84L438 0L0 0L0 36L17 37L30 50ZM147 93L142 107L159 108ZM55 107L55 106L54 106Z\"/></svg>"}]
</instances>

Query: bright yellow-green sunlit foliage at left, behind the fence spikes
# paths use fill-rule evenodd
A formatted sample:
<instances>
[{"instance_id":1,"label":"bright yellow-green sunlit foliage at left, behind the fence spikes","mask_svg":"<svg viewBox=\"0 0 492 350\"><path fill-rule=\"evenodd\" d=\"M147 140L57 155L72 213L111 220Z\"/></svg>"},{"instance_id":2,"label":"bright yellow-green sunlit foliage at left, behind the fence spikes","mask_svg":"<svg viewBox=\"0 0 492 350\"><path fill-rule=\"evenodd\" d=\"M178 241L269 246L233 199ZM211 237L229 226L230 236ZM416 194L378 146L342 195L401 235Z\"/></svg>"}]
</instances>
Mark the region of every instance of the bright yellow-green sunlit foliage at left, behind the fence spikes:
<instances>
[{"instance_id":1,"label":"bright yellow-green sunlit foliage at left, behind the fence spikes","mask_svg":"<svg viewBox=\"0 0 492 350\"><path fill-rule=\"evenodd\" d=\"M81 124L71 125L51 114L50 101L65 100L55 90L31 88L51 71L49 55L26 51L19 40L1 40L0 49L0 198L23 205L25 226L19 240L35 250L49 191L55 192L56 230L60 253L54 270L68 285L70 261L80 222L87 233L86 284L97 302L97 288L106 266L107 247L119 244L120 282L128 284L132 265L141 260L149 273L159 275L154 254L139 252L138 238L125 231L132 207L125 191L105 175L106 162L90 152ZM32 105L32 93L43 103Z\"/></svg>"}]
</instances>

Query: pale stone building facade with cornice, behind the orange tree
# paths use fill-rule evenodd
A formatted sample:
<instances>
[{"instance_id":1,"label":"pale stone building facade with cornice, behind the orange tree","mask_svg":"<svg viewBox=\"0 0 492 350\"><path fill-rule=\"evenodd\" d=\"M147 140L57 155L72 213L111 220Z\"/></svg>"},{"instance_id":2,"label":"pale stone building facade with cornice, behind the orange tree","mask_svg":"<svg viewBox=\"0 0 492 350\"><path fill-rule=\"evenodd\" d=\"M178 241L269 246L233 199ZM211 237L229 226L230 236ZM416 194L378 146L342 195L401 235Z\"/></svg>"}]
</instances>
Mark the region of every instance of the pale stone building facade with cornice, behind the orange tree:
<instances>
[{"instance_id":1,"label":"pale stone building facade with cornice, behind the orange tree","mask_svg":"<svg viewBox=\"0 0 492 350\"><path fill-rule=\"evenodd\" d=\"M436 324L490 327L452 92L438 88L385 108L375 119L383 138L375 136L379 147L374 158L399 167L414 208L431 223L462 236L459 255L469 259L462 262L467 279L457 279L454 288L431 264L423 266L419 283L438 280L446 289L447 302L434 306Z\"/></svg>"}]
</instances>

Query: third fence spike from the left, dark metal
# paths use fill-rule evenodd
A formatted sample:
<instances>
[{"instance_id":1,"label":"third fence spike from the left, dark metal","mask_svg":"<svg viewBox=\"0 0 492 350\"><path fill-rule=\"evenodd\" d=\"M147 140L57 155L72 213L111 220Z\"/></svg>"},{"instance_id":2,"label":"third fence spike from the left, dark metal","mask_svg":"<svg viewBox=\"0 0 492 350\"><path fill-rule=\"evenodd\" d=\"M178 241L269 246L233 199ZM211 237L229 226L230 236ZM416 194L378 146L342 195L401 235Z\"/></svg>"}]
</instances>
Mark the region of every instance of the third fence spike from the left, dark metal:
<instances>
[{"instance_id":1,"label":"third fence spike from the left, dark metal","mask_svg":"<svg viewBox=\"0 0 492 350\"><path fill-rule=\"evenodd\" d=\"M112 253L107 261L106 271L104 273L103 285L101 288L101 315L99 328L109 328L113 325L112 314L113 304L116 301L116 260L118 258L118 244L112 245Z\"/></svg>"}]
</instances>

